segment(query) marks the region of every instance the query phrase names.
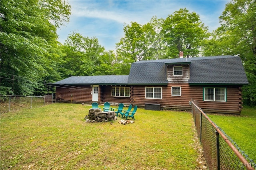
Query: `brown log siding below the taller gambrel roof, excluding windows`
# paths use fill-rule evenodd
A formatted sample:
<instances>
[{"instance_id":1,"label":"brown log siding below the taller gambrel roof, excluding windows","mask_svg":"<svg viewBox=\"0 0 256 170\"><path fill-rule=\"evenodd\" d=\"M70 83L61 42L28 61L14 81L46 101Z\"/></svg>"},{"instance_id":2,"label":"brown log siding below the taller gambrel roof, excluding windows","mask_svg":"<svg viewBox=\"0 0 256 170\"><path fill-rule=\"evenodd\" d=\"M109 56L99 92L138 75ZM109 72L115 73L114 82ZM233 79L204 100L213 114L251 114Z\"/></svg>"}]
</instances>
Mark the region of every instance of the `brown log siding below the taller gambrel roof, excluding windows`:
<instances>
[{"instance_id":1,"label":"brown log siding below the taller gambrel roof, excluding windows","mask_svg":"<svg viewBox=\"0 0 256 170\"><path fill-rule=\"evenodd\" d=\"M181 96L172 96L172 87L181 87ZM193 99L198 101L198 106L203 110L213 113L240 113L242 102L239 98L240 87L234 86L216 86L226 88L226 102L208 102L203 101L204 86L190 86L187 83L172 84L162 87L162 99L146 99L145 87L153 86L133 86L132 87L132 104L144 106L145 103L160 104L162 108L186 109L191 110L189 102ZM211 86L212 87L212 86ZM215 87L215 86L214 86Z\"/></svg>"}]
</instances>

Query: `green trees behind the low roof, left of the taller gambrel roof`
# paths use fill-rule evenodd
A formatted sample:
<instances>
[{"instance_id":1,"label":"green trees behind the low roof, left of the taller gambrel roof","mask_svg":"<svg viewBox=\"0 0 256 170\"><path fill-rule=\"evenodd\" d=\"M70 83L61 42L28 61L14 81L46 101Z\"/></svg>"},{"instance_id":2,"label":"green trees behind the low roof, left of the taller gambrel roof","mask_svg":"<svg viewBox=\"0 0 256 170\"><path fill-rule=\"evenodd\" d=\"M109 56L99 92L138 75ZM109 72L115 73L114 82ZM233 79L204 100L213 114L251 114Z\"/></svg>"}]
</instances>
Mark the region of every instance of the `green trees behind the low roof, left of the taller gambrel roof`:
<instances>
[{"instance_id":1,"label":"green trees behind the low roof, left of the taller gambrel roof","mask_svg":"<svg viewBox=\"0 0 256 170\"><path fill-rule=\"evenodd\" d=\"M114 51L104 51L96 37L83 37L72 33L62 46L61 70L63 78L69 76L129 74L122 59ZM127 72L128 70L128 72Z\"/></svg>"}]
</instances>

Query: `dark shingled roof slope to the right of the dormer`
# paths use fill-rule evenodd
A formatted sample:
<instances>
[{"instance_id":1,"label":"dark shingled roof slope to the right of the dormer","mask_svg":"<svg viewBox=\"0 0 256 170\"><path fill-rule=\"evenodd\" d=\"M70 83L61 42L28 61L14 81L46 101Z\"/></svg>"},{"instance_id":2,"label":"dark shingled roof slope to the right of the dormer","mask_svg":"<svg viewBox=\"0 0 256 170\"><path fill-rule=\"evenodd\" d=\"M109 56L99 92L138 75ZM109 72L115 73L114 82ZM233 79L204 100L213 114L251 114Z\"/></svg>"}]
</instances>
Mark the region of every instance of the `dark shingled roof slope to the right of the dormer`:
<instances>
[{"instance_id":1,"label":"dark shingled roof slope to the right of the dormer","mask_svg":"<svg viewBox=\"0 0 256 170\"><path fill-rule=\"evenodd\" d=\"M204 58L191 59L190 84L248 84L240 57Z\"/></svg>"}]
</instances>

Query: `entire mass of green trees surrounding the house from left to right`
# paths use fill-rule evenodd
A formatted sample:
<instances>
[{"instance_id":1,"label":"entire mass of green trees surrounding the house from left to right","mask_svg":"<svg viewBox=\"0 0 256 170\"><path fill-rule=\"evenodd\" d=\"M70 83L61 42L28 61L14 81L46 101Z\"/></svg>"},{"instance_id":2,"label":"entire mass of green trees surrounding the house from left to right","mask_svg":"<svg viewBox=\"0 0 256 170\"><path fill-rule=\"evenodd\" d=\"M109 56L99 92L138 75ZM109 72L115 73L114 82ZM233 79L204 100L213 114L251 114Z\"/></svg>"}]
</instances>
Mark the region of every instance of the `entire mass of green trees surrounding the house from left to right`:
<instances>
[{"instance_id":1,"label":"entire mass of green trees surrounding the house from left to right","mask_svg":"<svg viewBox=\"0 0 256 170\"><path fill-rule=\"evenodd\" d=\"M256 3L231 1L210 39L195 12L182 8L165 20L152 17L142 25L124 25L116 51L105 51L96 37L72 33L64 45L56 28L69 21L71 6L61 0L5 0L0 6L1 94L40 95L54 89L43 85L69 76L129 74L139 60L198 55L238 55L250 85L244 103L256 101Z\"/></svg>"}]
</instances>

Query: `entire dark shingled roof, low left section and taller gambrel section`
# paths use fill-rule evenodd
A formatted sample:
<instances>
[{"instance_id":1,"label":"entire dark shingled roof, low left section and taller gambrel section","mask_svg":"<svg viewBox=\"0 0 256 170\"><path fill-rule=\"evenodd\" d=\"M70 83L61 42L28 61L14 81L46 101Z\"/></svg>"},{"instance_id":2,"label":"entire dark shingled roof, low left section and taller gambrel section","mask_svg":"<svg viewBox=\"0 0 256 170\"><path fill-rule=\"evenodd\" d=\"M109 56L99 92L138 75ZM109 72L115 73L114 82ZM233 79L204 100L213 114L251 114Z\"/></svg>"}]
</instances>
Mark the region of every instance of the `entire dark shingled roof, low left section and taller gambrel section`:
<instances>
[{"instance_id":1,"label":"entire dark shingled roof, low left section and taller gambrel section","mask_svg":"<svg viewBox=\"0 0 256 170\"><path fill-rule=\"evenodd\" d=\"M168 84L166 65L189 64L189 84L248 84L240 57L231 55L137 61L129 75L71 76L53 84Z\"/></svg>"}]
</instances>

